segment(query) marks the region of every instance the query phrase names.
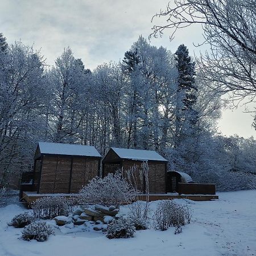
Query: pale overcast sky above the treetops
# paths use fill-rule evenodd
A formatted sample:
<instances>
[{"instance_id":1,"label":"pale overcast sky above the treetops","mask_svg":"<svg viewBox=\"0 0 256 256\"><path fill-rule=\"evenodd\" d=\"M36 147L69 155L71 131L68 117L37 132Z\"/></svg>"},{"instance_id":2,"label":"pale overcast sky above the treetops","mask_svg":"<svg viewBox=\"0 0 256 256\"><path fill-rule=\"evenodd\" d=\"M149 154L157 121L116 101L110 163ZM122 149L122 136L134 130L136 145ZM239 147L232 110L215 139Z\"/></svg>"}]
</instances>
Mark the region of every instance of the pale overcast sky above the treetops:
<instances>
[{"instance_id":1,"label":"pale overcast sky above the treetops","mask_svg":"<svg viewBox=\"0 0 256 256\"><path fill-rule=\"evenodd\" d=\"M154 14L164 9L168 0L1 0L0 32L7 42L22 40L53 65L63 49L71 47L76 58L81 58L86 68L123 59L124 53L138 39L148 38ZM201 43L200 27L179 31L170 42L169 32L151 39L151 44L176 51L184 43L191 55L198 55L205 47L196 48L193 43ZM218 123L224 135L238 134L245 138L254 135L251 127L253 117L243 113L243 108L225 110Z\"/></svg>"}]
</instances>

